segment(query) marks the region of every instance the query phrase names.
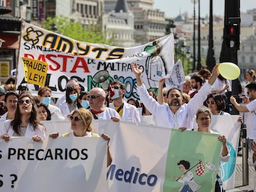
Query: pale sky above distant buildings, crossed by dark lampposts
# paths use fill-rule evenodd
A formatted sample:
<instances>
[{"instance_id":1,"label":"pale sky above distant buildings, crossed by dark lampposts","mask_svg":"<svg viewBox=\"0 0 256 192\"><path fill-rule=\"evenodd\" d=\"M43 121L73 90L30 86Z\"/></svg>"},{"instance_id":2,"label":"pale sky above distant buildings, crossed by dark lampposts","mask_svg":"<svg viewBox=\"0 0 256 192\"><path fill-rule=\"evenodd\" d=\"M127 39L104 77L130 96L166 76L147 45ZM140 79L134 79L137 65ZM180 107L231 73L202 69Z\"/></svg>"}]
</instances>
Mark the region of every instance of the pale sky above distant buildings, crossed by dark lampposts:
<instances>
[{"instance_id":1,"label":"pale sky above distant buildings, crossed by dark lampposts","mask_svg":"<svg viewBox=\"0 0 256 192\"><path fill-rule=\"evenodd\" d=\"M187 11L190 15L194 14L193 0L154 0L153 7L165 12L166 17L176 17L179 13ZM213 0L213 14L224 15L224 0ZM172 5L173 4L173 5ZM209 15L210 0L200 1L200 15ZM245 12L247 9L256 9L255 0L241 0L240 10ZM198 14L198 3L195 5L196 15Z\"/></svg>"}]
</instances>

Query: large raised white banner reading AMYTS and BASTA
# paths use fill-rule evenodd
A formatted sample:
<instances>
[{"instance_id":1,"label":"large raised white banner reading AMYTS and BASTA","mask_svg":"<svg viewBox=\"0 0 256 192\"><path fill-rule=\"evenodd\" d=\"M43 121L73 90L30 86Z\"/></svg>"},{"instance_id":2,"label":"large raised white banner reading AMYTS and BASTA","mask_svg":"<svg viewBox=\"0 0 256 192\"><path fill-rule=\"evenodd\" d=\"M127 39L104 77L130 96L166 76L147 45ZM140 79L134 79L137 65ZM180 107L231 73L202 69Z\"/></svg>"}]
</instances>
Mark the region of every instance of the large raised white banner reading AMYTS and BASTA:
<instances>
[{"instance_id":1,"label":"large raised white banner reading AMYTS and BASTA","mask_svg":"<svg viewBox=\"0 0 256 192\"><path fill-rule=\"evenodd\" d=\"M24 23L20 38L17 84L24 83L22 57L48 63L45 86L53 97L62 96L67 80L75 78L82 91L98 86L93 75L108 70L109 81L117 79L126 84L126 98L139 98L132 62L143 69L143 81L148 88L158 88L158 80L173 66L174 38L164 36L153 42L132 48L118 48L106 44L72 40L52 31ZM36 68L35 68L36 69ZM31 77L36 81L37 77ZM39 86L30 84L28 90L37 95Z\"/></svg>"}]
</instances>

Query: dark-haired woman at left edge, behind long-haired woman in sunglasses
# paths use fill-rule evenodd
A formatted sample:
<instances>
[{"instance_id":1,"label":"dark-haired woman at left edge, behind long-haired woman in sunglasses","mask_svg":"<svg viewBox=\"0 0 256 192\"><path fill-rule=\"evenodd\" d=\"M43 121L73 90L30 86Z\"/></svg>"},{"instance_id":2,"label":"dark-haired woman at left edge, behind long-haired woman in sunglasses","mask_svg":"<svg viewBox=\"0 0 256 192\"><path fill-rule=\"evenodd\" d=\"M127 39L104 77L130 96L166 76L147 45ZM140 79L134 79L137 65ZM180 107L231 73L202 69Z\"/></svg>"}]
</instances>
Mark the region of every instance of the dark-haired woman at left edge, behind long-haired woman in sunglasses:
<instances>
[{"instance_id":1,"label":"dark-haired woman at left edge, behind long-haired woman in sunglasses","mask_svg":"<svg viewBox=\"0 0 256 192\"><path fill-rule=\"evenodd\" d=\"M4 105L7 108L7 112L2 115L0 120L8 120L8 119L14 119L15 111L17 109L17 102L19 100L19 94L10 91L6 93L6 96L4 96Z\"/></svg>"}]
</instances>

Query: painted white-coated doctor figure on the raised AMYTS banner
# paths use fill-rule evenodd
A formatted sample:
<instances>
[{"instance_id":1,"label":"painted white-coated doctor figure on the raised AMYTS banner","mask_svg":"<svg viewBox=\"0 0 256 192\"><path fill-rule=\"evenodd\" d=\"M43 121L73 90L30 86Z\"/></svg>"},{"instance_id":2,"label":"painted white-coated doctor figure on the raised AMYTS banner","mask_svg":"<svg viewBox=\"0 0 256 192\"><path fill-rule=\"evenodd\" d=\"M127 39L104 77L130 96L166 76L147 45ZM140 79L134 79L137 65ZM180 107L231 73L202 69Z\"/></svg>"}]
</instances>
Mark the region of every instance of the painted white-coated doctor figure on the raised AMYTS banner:
<instances>
[{"instance_id":1,"label":"painted white-coated doctor figure on the raised AMYTS banner","mask_svg":"<svg viewBox=\"0 0 256 192\"><path fill-rule=\"evenodd\" d=\"M153 46L146 46L144 51L151 54L146 61L146 74L150 88L158 88L158 81L165 75L164 60L159 56L160 45L153 41Z\"/></svg>"}]
</instances>

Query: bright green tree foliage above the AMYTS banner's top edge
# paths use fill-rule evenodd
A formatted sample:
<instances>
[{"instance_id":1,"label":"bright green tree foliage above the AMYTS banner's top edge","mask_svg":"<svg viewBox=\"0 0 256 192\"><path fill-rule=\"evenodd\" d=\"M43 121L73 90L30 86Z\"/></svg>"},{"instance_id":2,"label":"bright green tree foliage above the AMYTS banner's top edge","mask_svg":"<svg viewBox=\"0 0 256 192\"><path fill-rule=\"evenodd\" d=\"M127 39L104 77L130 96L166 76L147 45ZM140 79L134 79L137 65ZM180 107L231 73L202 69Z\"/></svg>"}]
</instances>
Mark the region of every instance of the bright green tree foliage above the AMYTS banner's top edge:
<instances>
[{"instance_id":1,"label":"bright green tree foliage above the AMYTS banner's top edge","mask_svg":"<svg viewBox=\"0 0 256 192\"><path fill-rule=\"evenodd\" d=\"M72 22L72 20L63 15L53 18L48 17L45 20L43 28L56 31L61 35L68 36L77 41L113 44L113 39L106 40L106 34L102 32L101 25L87 25L83 27L79 22Z\"/></svg>"}]
</instances>

